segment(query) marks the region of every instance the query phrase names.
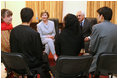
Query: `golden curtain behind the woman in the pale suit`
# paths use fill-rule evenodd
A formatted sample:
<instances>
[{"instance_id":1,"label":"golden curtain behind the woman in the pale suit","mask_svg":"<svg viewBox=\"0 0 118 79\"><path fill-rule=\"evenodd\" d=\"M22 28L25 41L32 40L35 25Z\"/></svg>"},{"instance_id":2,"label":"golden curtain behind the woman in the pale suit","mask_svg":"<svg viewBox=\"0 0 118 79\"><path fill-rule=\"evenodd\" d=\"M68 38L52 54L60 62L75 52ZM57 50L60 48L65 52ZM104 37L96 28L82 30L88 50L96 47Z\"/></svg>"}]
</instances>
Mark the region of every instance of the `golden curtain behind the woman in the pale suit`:
<instances>
[{"instance_id":1,"label":"golden curtain behind the woman in the pale suit","mask_svg":"<svg viewBox=\"0 0 118 79\"><path fill-rule=\"evenodd\" d=\"M58 18L59 22L62 22L63 1L26 1L26 7L34 11L33 22L41 19L40 14L43 10L48 11L49 18Z\"/></svg>"}]
</instances>

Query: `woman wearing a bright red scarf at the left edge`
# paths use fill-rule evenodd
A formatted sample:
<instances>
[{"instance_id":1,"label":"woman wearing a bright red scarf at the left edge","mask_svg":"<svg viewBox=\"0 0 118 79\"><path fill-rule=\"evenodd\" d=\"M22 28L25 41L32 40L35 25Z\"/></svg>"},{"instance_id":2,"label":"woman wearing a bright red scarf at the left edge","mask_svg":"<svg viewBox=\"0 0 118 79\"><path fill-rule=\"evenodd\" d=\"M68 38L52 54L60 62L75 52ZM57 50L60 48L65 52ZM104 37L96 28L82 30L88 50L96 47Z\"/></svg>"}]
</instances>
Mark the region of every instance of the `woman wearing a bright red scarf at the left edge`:
<instances>
[{"instance_id":1,"label":"woman wearing a bright red scarf at the left edge","mask_svg":"<svg viewBox=\"0 0 118 79\"><path fill-rule=\"evenodd\" d=\"M12 12L8 9L1 10L1 51L10 52L10 32L12 27Z\"/></svg>"}]
</instances>

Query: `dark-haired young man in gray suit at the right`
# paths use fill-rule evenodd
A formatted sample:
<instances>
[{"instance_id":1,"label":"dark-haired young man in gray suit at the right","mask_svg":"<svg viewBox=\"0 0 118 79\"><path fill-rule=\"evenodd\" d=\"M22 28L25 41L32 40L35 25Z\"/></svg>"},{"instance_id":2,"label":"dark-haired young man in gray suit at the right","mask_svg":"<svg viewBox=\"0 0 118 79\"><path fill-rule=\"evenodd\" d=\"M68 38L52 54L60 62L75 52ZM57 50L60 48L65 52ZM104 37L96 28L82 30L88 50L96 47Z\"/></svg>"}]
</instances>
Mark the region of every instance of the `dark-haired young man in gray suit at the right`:
<instances>
[{"instance_id":1,"label":"dark-haired young man in gray suit at the right","mask_svg":"<svg viewBox=\"0 0 118 79\"><path fill-rule=\"evenodd\" d=\"M96 70L96 62L100 53L117 53L117 25L110 22L112 10L102 7L97 10L99 24L92 28L90 39L90 52L93 55L93 62L89 72Z\"/></svg>"}]
</instances>

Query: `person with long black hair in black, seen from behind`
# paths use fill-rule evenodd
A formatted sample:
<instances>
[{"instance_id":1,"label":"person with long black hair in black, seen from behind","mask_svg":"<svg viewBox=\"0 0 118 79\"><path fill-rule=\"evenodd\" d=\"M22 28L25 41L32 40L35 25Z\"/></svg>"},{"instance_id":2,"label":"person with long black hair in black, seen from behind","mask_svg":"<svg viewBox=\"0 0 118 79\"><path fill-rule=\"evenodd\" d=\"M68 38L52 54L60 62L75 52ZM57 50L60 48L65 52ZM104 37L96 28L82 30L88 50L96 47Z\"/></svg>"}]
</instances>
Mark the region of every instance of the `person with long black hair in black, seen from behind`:
<instances>
[{"instance_id":1,"label":"person with long black hair in black, seen from behind","mask_svg":"<svg viewBox=\"0 0 118 79\"><path fill-rule=\"evenodd\" d=\"M64 29L55 39L56 54L77 56L84 44L78 19L73 14L67 14L64 18Z\"/></svg>"}]
</instances>

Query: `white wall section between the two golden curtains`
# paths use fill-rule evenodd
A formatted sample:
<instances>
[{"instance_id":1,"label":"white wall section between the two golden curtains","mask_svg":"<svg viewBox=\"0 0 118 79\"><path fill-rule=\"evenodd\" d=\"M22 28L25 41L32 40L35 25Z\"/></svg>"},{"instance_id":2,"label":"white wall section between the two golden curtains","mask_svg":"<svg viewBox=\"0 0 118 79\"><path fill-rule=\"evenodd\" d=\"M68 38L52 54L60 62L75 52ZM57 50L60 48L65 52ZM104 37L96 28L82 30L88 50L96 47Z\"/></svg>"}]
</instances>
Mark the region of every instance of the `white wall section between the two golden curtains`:
<instances>
[{"instance_id":1,"label":"white wall section between the two golden curtains","mask_svg":"<svg viewBox=\"0 0 118 79\"><path fill-rule=\"evenodd\" d=\"M86 15L86 9L87 9L87 1L64 1L63 17L68 13L72 13L76 15L76 13L79 10L84 11Z\"/></svg>"}]
</instances>

